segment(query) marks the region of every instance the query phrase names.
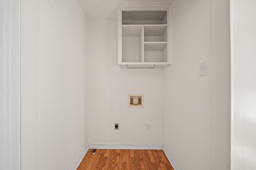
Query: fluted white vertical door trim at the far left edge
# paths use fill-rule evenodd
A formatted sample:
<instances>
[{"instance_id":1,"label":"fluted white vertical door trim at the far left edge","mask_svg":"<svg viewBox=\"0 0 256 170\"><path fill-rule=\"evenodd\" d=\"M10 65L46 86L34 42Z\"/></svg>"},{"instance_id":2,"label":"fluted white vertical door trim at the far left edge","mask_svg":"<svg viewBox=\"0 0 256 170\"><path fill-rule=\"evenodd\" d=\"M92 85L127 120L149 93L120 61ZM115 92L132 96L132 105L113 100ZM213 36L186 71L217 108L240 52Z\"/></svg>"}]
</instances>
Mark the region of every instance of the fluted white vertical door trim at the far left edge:
<instances>
[{"instance_id":1,"label":"fluted white vertical door trim at the far left edge","mask_svg":"<svg viewBox=\"0 0 256 170\"><path fill-rule=\"evenodd\" d=\"M20 0L0 6L0 169L20 170Z\"/></svg>"}]
</instances>

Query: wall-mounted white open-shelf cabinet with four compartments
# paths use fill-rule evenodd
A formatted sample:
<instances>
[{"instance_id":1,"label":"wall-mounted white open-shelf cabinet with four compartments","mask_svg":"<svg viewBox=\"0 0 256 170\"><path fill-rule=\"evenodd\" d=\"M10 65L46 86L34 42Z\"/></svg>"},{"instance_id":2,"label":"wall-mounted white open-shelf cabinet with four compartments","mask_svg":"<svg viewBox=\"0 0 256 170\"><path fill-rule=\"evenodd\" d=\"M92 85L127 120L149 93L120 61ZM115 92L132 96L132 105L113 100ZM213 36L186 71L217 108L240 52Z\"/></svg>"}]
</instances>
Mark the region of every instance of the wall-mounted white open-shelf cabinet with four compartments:
<instances>
[{"instance_id":1,"label":"wall-mounted white open-shelf cabinet with four compartments","mask_svg":"<svg viewBox=\"0 0 256 170\"><path fill-rule=\"evenodd\" d=\"M118 6L118 64L154 68L171 64L170 5Z\"/></svg>"}]
</instances>

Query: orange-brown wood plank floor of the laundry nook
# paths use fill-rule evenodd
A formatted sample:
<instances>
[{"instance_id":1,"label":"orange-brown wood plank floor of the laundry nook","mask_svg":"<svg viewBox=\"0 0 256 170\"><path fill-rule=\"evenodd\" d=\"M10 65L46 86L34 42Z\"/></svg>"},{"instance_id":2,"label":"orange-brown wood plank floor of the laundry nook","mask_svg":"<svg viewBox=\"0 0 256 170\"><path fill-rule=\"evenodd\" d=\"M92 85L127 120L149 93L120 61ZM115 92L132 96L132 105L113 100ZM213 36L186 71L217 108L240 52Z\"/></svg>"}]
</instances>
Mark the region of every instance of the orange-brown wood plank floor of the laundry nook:
<instances>
[{"instance_id":1,"label":"orange-brown wood plank floor of the laundry nook","mask_svg":"<svg viewBox=\"0 0 256 170\"><path fill-rule=\"evenodd\" d=\"M163 150L88 150L77 170L174 170Z\"/></svg>"}]
</instances>

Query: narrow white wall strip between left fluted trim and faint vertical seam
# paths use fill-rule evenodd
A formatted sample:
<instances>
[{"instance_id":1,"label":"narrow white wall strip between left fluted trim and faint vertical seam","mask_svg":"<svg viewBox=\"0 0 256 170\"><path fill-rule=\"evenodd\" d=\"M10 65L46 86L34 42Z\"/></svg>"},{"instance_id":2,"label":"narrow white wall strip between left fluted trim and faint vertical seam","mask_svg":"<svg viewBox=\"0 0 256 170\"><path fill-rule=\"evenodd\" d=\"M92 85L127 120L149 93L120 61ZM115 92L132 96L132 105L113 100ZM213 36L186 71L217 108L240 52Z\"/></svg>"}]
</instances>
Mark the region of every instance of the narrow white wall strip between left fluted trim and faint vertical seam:
<instances>
[{"instance_id":1,"label":"narrow white wall strip between left fluted trim and faint vertical seam","mask_svg":"<svg viewBox=\"0 0 256 170\"><path fill-rule=\"evenodd\" d=\"M21 1L21 169L38 169L38 0Z\"/></svg>"}]
</instances>

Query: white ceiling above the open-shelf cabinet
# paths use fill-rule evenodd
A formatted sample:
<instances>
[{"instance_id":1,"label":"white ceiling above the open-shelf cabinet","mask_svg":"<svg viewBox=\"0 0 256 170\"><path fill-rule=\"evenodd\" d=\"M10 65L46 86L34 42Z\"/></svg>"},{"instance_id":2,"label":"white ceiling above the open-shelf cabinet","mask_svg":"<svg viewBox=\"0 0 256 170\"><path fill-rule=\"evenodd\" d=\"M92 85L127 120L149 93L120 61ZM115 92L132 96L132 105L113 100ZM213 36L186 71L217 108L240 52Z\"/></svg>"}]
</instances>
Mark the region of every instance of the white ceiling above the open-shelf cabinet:
<instances>
[{"instance_id":1,"label":"white ceiling above the open-shelf cabinet","mask_svg":"<svg viewBox=\"0 0 256 170\"><path fill-rule=\"evenodd\" d=\"M171 4L173 0L77 0L89 20L117 19L118 4Z\"/></svg>"}]
</instances>

